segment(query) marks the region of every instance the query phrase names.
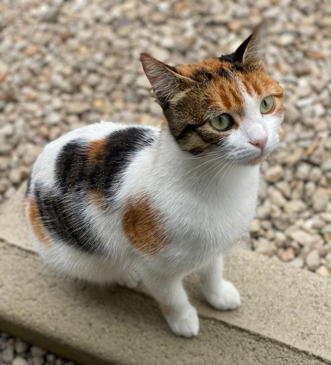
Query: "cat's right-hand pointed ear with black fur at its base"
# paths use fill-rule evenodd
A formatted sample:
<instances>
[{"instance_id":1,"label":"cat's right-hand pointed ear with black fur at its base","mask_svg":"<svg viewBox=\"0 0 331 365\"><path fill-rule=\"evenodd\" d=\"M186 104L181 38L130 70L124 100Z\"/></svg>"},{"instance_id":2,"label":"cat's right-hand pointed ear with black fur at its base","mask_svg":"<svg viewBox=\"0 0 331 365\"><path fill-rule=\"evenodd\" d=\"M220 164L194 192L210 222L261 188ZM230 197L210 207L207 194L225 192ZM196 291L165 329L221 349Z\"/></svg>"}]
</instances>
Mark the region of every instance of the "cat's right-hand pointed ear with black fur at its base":
<instances>
[{"instance_id":1,"label":"cat's right-hand pointed ear with black fur at its base","mask_svg":"<svg viewBox=\"0 0 331 365\"><path fill-rule=\"evenodd\" d=\"M266 22L264 21L259 25L255 32L244 40L236 49L233 53L234 60L240 63L261 60L261 55L264 50L264 40L266 38L265 33Z\"/></svg>"}]
</instances>

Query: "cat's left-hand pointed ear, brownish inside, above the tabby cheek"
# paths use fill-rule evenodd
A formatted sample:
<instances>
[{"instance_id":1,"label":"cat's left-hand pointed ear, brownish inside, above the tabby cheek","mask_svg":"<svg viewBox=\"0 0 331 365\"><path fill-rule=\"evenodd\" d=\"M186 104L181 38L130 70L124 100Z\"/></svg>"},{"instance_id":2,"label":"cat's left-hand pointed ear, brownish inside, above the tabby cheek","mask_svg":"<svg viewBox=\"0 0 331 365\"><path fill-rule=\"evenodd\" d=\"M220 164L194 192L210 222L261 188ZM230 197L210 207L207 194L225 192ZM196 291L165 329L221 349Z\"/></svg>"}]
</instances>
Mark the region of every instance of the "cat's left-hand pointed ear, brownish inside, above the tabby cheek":
<instances>
[{"instance_id":1,"label":"cat's left-hand pointed ear, brownish inside, above the tabby cheek","mask_svg":"<svg viewBox=\"0 0 331 365\"><path fill-rule=\"evenodd\" d=\"M193 80L177 73L176 68L166 65L142 53L140 60L147 79L151 83L155 97L163 108L177 93L185 90Z\"/></svg>"}]
</instances>

